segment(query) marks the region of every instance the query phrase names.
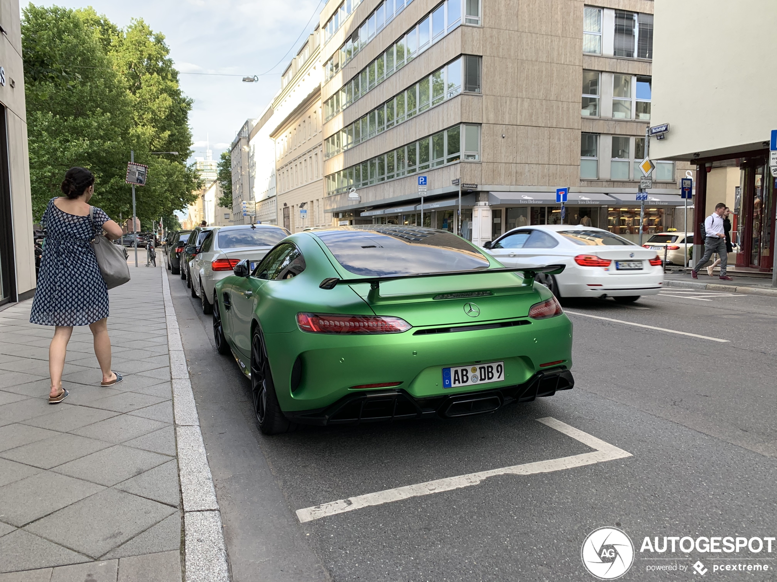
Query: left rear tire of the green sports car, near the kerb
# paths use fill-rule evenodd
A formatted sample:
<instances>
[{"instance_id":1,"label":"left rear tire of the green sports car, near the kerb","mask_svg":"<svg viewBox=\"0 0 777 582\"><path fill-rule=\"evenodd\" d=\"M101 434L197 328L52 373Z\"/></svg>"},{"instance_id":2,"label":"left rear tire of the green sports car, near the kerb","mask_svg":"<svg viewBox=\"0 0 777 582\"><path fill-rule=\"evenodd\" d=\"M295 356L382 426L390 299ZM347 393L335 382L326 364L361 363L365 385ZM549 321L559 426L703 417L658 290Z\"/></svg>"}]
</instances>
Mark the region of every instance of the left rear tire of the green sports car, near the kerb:
<instances>
[{"instance_id":1,"label":"left rear tire of the green sports car, near the kerb","mask_svg":"<svg viewBox=\"0 0 777 582\"><path fill-rule=\"evenodd\" d=\"M297 428L280 410L270 364L267 362L267 350L258 327L251 338L251 392L256 422L265 435L278 435Z\"/></svg>"}]
</instances>

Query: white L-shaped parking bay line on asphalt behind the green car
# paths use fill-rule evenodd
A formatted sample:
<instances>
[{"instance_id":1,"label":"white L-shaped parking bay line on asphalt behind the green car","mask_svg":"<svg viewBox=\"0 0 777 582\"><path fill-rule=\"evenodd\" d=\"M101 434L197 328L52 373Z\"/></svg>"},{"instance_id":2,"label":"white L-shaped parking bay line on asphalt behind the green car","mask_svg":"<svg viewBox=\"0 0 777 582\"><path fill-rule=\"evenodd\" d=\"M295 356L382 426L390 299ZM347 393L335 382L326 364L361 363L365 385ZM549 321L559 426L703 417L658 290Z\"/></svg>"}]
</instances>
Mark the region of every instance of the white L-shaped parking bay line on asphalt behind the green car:
<instances>
[{"instance_id":1,"label":"white L-shaped parking bay line on asphalt behind the green car","mask_svg":"<svg viewBox=\"0 0 777 582\"><path fill-rule=\"evenodd\" d=\"M300 523L305 523L305 521L314 521L315 519L326 518L329 515L368 508L372 505L382 505L391 503L392 501L409 499L410 497L420 497L422 495L470 487L471 485L479 484L490 476L552 473L563 469L573 469L574 467L594 465L598 462L612 461L632 456L630 452L618 449L615 445L602 441L600 438L589 435L587 432L574 428L556 418L538 418L537 421L582 442L584 445L594 449L594 451L584 452L580 455L561 457L559 459L550 459L548 461L527 462L523 465L514 465L501 469L489 469L487 471L480 471L479 473L469 473L468 475L445 477L444 479L427 481L426 483L395 487L394 489L387 489L376 493L368 493L365 495L357 495L356 497L349 497L348 499L330 501L329 503L315 505L312 508L298 509L297 518Z\"/></svg>"}]
</instances>

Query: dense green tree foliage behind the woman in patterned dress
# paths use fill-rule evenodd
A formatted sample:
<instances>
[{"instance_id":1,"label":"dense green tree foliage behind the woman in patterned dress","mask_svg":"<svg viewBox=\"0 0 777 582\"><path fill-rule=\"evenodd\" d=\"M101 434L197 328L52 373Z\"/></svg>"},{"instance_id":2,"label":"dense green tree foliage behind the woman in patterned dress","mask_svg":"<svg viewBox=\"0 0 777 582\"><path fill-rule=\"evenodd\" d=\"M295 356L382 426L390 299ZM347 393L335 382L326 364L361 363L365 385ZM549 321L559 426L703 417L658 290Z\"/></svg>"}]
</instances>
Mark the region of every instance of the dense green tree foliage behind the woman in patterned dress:
<instances>
[{"instance_id":1,"label":"dense green tree foliage behind the woman in patterned dress","mask_svg":"<svg viewBox=\"0 0 777 582\"><path fill-rule=\"evenodd\" d=\"M95 174L95 206L113 218L131 216L124 182L131 150L149 167L137 189L138 217L159 220L196 199L201 181L186 165L192 102L179 88L164 36L141 19L120 29L91 8L30 4L22 39L37 219L72 166Z\"/></svg>"}]
</instances>

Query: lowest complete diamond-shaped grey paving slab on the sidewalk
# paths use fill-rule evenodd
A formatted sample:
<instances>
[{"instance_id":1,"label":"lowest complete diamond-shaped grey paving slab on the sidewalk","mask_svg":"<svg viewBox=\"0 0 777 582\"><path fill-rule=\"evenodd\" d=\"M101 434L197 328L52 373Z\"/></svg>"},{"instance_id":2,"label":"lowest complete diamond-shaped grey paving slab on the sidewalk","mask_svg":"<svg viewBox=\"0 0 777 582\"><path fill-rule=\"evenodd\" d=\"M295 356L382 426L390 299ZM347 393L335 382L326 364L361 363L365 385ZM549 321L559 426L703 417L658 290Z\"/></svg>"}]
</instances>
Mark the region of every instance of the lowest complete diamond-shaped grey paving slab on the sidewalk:
<instances>
[{"instance_id":1,"label":"lowest complete diamond-shaped grey paving slab on the sidewalk","mask_svg":"<svg viewBox=\"0 0 777 582\"><path fill-rule=\"evenodd\" d=\"M25 530L99 558L176 511L157 501L106 489L35 521ZM0 542L10 535L14 534L0 538Z\"/></svg>"}]
</instances>

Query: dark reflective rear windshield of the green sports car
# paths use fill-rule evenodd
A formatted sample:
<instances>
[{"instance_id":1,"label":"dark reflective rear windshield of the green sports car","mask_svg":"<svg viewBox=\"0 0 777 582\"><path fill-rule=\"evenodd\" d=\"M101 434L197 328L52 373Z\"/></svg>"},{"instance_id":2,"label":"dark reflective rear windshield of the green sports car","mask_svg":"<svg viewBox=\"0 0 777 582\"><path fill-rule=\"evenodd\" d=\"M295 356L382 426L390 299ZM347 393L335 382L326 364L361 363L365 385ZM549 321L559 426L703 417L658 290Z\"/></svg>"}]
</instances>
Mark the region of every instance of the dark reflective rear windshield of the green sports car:
<instances>
[{"instance_id":1,"label":"dark reflective rear windshield of the green sports car","mask_svg":"<svg viewBox=\"0 0 777 582\"><path fill-rule=\"evenodd\" d=\"M312 233L311 233L312 234ZM315 232L343 268L383 277L488 268L488 259L447 230L374 226Z\"/></svg>"}]
</instances>

